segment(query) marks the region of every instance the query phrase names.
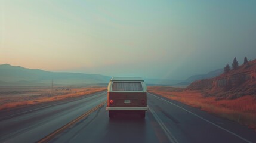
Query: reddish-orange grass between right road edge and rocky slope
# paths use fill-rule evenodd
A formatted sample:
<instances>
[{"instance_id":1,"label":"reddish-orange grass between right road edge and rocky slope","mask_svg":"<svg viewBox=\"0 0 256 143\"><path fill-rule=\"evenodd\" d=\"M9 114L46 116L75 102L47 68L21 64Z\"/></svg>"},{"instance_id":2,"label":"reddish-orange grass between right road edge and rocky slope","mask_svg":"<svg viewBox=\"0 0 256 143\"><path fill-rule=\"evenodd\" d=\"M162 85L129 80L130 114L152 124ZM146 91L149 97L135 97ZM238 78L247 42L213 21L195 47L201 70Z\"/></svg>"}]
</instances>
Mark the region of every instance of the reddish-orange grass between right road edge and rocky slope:
<instances>
[{"instance_id":1,"label":"reddish-orange grass between right road edge and rocky slope","mask_svg":"<svg viewBox=\"0 0 256 143\"><path fill-rule=\"evenodd\" d=\"M161 86L150 86L147 90L256 129L256 98L252 96L247 95L235 100L216 100L215 97L203 97L201 91L177 91L177 88L166 89Z\"/></svg>"}]
</instances>

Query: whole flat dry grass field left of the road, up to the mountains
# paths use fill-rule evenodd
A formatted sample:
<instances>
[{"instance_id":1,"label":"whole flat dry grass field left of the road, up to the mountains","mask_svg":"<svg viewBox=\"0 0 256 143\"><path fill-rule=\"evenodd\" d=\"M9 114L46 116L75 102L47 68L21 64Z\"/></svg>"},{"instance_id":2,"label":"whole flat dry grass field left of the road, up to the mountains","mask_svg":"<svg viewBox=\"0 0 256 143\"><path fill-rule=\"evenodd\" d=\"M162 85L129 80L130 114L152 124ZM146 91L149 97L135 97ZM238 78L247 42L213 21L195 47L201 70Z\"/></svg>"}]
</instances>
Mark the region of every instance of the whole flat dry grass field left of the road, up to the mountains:
<instances>
[{"instance_id":1,"label":"whole flat dry grass field left of the road, up to the mountains","mask_svg":"<svg viewBox=\"0 0 256 143\"><path fill-rule=\"evenodd\" d=\"M0 87L0 110L78 97L106 90L106 87Z\"/></svg>"}]
</instances>

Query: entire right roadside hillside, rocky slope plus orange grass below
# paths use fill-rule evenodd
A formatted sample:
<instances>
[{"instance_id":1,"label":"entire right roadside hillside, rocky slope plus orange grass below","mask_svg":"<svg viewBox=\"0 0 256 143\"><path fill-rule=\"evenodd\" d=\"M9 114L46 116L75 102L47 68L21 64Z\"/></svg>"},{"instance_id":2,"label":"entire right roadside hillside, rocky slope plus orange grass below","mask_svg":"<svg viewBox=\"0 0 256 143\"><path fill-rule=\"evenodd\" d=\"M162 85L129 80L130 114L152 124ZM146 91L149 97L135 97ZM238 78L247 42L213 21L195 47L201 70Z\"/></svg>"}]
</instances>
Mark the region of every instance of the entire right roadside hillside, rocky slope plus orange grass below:
<instances>
[{"instance_id":1,"label":"entire right roadside hillside, rocky slope plus orange grass below","mask_svg":"<svg viewBox=\"0 0 256 143\"><path fill-rule=\"evenodd\" d=\"M256 130L256 60L187 88L152 86L147 90Z\"/></svg>"}]
</instances>

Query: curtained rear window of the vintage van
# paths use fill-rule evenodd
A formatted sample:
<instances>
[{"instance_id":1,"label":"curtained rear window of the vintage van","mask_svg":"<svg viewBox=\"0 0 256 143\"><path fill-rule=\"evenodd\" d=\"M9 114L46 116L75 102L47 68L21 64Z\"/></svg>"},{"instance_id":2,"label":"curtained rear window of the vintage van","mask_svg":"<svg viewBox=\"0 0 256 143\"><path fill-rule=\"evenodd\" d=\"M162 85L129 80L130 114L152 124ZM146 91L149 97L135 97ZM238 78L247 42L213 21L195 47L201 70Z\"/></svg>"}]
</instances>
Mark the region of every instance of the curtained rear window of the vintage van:
<instances>
[{"instance_id":1,"label":"curtained rear window of the vintage van","mask_svg":"<svg viewBox=\"0 0 256 143\"><path fill-rule=\"evenodd\" d=\"M112 91L142 91L140 82L113 82Z\"/></svg>"}]
</instances>

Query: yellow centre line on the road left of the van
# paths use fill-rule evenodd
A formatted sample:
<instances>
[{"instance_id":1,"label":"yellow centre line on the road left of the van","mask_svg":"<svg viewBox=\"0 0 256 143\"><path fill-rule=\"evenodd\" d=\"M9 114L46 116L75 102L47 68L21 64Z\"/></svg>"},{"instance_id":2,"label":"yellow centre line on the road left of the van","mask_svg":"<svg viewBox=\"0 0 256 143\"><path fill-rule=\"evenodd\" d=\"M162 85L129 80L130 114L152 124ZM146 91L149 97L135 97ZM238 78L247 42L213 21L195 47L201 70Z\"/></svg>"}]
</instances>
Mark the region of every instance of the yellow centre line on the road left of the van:
<instances>
[{"instance_id":1,"label":"yellow centre line on the road left of the van","mask_svg":"<svg viewBox=\"0 0 256 143\"><path fill-rule=\"evenodd\" d=\"M66 130L67 128L69 128L70 126L74 125L75 123L78 123L79 121L81 121L82 119L84 119L86 116L88 116L89 114L91 114L92 112L94 112L95 110L97 110L98 108L100 108L101 106L103 106L104 104L106 104L107 101L102 102L101 104L97 105L97 107L92 108L90 111L88 111L87 113L82 114L81 116L79 116L78 118L72 120L71 122L67 123L66 125L62 126L61 128L55 130L54 132L50 133L49 135L45 136L44 138L40 139L38 141L38 143L41 142L49 142L51 139L55 138L55 136L59 135L61 132L63 132L64 130Z\"/></svg>"}]
</instances>

